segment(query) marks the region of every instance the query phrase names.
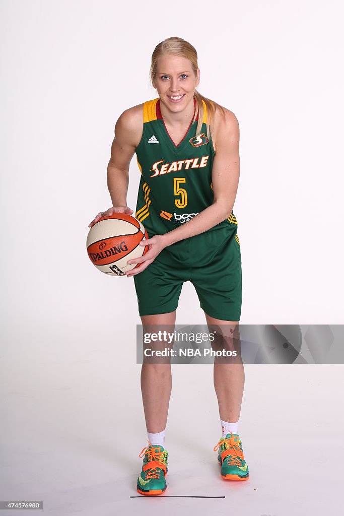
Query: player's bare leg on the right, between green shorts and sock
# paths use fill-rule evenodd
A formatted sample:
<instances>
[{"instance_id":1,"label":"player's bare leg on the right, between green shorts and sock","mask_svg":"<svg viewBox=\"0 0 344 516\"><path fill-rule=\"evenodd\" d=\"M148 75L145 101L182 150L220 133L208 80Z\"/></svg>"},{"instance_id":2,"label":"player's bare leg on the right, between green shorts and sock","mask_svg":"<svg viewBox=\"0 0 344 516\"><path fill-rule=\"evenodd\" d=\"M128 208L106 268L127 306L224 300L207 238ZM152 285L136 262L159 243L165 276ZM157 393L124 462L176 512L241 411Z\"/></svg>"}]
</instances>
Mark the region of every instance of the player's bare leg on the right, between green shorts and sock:
<instances>
[{"instance_id":1,"label":"player's bare leg on the right, between green shorts and sock","mask_svg":"<svg viewBox=\"0 0 344 516\"><path fill-rule=\"evenodd\" d=\"M226 325L223 336L226 340L231 339L230 328L234 329L239 321L224 321L215 319L205 314L208 325ZM233 336L232 336L233 342ZM214 387L219 404L220 418L227 423L236 423L240 417L241 401L243 395L245 373L243 364L218 363L214 361Z\"/></svg>"}]
</instances>

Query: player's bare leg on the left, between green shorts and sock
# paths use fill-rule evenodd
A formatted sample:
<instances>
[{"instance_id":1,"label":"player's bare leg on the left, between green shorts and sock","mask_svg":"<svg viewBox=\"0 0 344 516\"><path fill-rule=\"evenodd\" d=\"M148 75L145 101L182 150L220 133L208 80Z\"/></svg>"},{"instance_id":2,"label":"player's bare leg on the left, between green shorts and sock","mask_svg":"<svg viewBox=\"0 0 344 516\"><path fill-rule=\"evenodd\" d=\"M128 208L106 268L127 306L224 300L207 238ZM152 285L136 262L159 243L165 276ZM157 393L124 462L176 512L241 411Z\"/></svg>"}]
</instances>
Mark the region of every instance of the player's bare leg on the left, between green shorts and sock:
<instances>
[{"instance_id":1,"label":"player's bare leg on the left, between green shorts and sock","mask_svg":"<svg viewBox=\"0 0 344 516\"><path fill-rule=\"evenodd\" d=\"M176 311L142 315L142 325L175 325ZM147 431L165 430L172 390L171 364L142 364L141 392Z\"/></svg>"}]
</instances>

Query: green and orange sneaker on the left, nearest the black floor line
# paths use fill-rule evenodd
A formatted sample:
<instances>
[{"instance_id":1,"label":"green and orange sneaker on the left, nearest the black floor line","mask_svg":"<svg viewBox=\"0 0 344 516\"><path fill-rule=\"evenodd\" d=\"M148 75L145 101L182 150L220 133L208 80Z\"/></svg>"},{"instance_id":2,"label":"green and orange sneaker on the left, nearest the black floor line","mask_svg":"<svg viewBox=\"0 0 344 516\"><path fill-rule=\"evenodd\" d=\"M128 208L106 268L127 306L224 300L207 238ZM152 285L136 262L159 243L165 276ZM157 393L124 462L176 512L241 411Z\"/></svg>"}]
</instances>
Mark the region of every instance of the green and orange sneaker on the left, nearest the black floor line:
<instances>
[{"instance_id":1,"label":"green and orange sneaker on the left, nearest the black floor line","mask_svg":"<svg viewBox=\"0 0 344 516\"><path fill-rule=\"evenodd\" d=\"M137 490L145 495L162 494L167 487L165 476L169 454L162 446L148 444L139 455L143 457L143 466L137 479Z\"/></svg>"}]
</instances>

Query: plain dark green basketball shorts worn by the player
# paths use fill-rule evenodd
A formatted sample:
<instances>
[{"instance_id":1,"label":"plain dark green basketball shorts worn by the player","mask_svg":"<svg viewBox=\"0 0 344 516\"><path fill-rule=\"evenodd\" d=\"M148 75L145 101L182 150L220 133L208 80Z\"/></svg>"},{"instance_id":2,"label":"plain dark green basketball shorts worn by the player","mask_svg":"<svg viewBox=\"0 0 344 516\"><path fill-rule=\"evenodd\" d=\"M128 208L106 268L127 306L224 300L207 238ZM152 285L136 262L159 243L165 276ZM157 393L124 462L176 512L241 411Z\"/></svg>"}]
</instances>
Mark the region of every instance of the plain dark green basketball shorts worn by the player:
<instances>
[{"instance_id":1,"label":"plain dark green basketball shorts worn by the player","mask_svg":"<svg viewBox=\"0 0 344 516\"><path fill-rule=\"evenodd\" d=\"M240 320L241 255L236 227L228 224L163 249L134 276L140 316L176 310L185 281L193 284L202 310L210 317Z\"/></svg>"}]
</instances>

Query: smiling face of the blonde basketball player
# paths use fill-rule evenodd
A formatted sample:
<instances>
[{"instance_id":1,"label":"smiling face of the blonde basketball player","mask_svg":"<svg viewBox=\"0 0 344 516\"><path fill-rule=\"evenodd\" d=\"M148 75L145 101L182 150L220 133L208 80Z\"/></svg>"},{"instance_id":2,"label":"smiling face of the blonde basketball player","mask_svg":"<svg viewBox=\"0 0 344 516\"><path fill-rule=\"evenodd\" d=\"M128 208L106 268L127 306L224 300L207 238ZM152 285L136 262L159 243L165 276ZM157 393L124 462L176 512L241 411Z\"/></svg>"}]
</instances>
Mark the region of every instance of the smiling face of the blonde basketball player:
<instances>
[{"instance_id":1,"label":"smiling face of the blonde basketball player","mask_svg":"<svg viewBox=\"0 0 344 516\"><path fill-rule=\"evenodd\" d=\"M161 101L172 111L182 111L192 102L200 83L200 69L195 76L191 61L181 56L165 55L158 59L154 81Z\"/></svg>"}]
</instances>

